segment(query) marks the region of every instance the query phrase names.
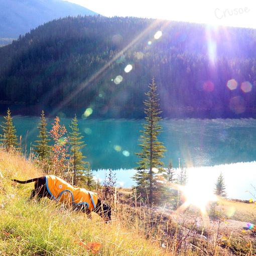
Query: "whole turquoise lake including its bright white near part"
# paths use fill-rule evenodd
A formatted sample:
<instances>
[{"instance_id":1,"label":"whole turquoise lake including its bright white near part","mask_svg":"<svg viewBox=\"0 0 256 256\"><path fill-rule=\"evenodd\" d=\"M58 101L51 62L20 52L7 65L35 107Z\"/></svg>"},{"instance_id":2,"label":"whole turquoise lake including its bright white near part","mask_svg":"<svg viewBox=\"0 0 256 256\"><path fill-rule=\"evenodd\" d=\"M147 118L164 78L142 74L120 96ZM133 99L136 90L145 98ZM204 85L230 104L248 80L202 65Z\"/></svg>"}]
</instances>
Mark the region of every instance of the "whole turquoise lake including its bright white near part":
<instances>
[{"instance_id":1,"label":"whole turquoise lake including its bright white near part","mask_svg":"<svg viewBox=\"0 0 256 256\"><path fill-rule=\"evenodd\" d=\"M1 123L4 117L0 117ZM71 119L60 118L69 130ZM53 119L48 119L48 131ZM95 176L104 179L104 169L116 171L120 186L134 184L131 177L141 152L138 146L144 120L78 119L79 130L86 147L83 155ZM17 135L27 152L37 140L40 117L13 116ZM187 167L188 182L213 188L220 172L228 197L249 199L256 194L256 119L165 119L159 140L167 152L163 162L174 168ZM120 170L121 169L121 170ZM103 170L103 171L100 171ZM102 175L101 175L102 173ZM252 185L252 186L251 186Z\"/></svg>"}]
</instances>

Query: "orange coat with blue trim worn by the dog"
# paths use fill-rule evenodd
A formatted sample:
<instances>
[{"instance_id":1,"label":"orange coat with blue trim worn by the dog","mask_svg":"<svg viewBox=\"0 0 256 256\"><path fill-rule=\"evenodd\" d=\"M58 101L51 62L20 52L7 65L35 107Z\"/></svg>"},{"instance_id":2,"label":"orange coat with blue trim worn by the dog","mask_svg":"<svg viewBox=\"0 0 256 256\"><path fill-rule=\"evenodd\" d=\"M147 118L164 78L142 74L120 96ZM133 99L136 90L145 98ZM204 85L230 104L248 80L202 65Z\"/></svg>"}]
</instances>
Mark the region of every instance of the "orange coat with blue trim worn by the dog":
<instances>
[{"instance_id":1,"label":"orange coat with blue trim worn by the dog","mask_svg":"<svg viewBox=\"0 0 256 256\"><path fill-rule=\"evenodd\" d=\"M98 201L98 195L84 188L70 185L54 175L47 175L46 187L53 199L66 202L70 205L85 204L85 208L92 211Z\"/></svg>"}]
</instances>

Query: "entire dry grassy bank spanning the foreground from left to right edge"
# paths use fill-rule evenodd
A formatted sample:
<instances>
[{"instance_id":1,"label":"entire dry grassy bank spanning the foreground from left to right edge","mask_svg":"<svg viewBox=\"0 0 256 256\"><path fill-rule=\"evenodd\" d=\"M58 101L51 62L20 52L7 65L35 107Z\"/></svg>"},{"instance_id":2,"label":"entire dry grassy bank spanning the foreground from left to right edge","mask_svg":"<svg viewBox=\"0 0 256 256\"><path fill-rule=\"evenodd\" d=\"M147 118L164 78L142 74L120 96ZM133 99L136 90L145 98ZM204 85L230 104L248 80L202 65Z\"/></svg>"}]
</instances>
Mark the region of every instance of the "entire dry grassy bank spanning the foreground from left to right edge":
<instances>
[{"instance_id":1,"label":"entire dry grassy bank spanning the foreground from left to right edge","mask_svg":"<svg viewBox=\"0 0 256 256\"><path fill-rule=\"evenodd\" d=\"M0 150L0 255L93 255L77 243L80 239L99 242L98 255L249 256L254 252L254 236L249 230L240 230L236 236L231 231L223 240L222 233L204 230L206 226L198 226L193 217L188 223L177 224L165 211L162 214L117 202L112 202L112 223L105 224L97 214L88 220L84 214L63 209L49 199L30 202L33 184L11 181L41 175L30 161ZM122 191L121 196L129 197L130 193ZM255 220L254 204L220 200L219 207L231 219ZM202 238L202 230L204 235L211 235Z\"/></svg>"}]
</instances>

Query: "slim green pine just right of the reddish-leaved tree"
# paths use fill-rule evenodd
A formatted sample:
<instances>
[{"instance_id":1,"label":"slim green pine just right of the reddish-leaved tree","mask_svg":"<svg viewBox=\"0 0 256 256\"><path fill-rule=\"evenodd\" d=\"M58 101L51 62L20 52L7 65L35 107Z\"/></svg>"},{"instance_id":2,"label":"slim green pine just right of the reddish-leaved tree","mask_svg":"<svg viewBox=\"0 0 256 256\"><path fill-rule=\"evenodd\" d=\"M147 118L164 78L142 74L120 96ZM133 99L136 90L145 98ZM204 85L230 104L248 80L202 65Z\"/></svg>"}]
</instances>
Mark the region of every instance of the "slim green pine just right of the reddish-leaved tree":
<instances>
[{"instance_id":1,"label":"slim green pine just right of the reddish-leaved tree","mask_svg":"<svg viewBox=\"0 0 256 256\"><path fill-rule=\"evenodd\" d=\"M69 140L70 140L70 145L71 145L70 152L73 157L74 184L76 184L78 182L78 180L81 180L81 179L86 180L87 181L86 183L88 183L88 182L90 183L91 178L92 178L91 177L92 174L90 173L90 170L86 170L86 173L89 175L87 178L86 178L86 176L82 177L82 175L85 174L85 172L84 172L85 165L86 164L88 165L89 163L83 161L83 159L85 157L82 155L82 153L80 151L86 145L84 145L83 144L84 142L81 141L83 139L83 136L80 136L81 133L79 133L76 115L71 120L71 125L69 125L69 127L72 130L72 132L69 134Z\"/></svg>"}]
</instances>

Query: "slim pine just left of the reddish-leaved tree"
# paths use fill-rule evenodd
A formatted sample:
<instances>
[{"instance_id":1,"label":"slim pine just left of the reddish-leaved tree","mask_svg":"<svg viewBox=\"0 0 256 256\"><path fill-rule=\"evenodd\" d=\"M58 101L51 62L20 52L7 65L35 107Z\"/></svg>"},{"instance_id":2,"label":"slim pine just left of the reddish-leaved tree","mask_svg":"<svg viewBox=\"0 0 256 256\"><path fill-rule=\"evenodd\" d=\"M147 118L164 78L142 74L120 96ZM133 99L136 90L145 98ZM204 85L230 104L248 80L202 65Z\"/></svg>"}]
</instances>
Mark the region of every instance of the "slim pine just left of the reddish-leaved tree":
<instances>
[{"instance_id":1,"label":"slim pine just left of the reddish-leaved tree","mask_svg":"<svg viewBox=\"0 0 256 256\"><path fill-rule=\"evenodd\" d=\"M47 122L45 119L44 110L41 113L41 122L39 123L39 136L37 136L40 140L35 141L37 145L33 145L36 149L36 153L38 154L38 162L43 167L44 171L47 173L48 164L51 152L51 146L48 145L48 142L51 141L48 139L49 133L47 132Z\"/></svg>"}]
</instances>

